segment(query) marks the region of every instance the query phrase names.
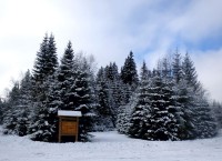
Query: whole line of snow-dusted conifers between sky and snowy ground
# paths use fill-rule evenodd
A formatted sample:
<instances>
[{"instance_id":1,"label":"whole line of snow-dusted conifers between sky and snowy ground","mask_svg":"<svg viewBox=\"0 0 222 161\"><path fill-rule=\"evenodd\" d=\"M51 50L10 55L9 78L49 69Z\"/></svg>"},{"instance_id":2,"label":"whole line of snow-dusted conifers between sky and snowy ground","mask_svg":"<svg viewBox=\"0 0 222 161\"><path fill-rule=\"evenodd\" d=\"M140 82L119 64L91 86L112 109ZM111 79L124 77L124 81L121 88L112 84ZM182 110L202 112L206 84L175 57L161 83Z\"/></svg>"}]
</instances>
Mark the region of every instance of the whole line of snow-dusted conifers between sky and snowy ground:
<instances>
[{"instance_id":1,"label":"whole line of snow-dusted conifers between sky and snowy ground","mask_svg":"<svg viewBox=\"0 0 222 161\"><path fill-rule=\"evenodd\" d=\"M58 110L82 112L80 141L114 129L145 140L209 138L222 127L222 105L208 100L188 53L175 50L153 70L143 62L138 74L131 51L120 70L110 62L97 71L93 57L74 53L70 41L59 61L54 37L46 34L32 71L0 100L3 133L54 142Z\"/></svg>"}]
</instances>

